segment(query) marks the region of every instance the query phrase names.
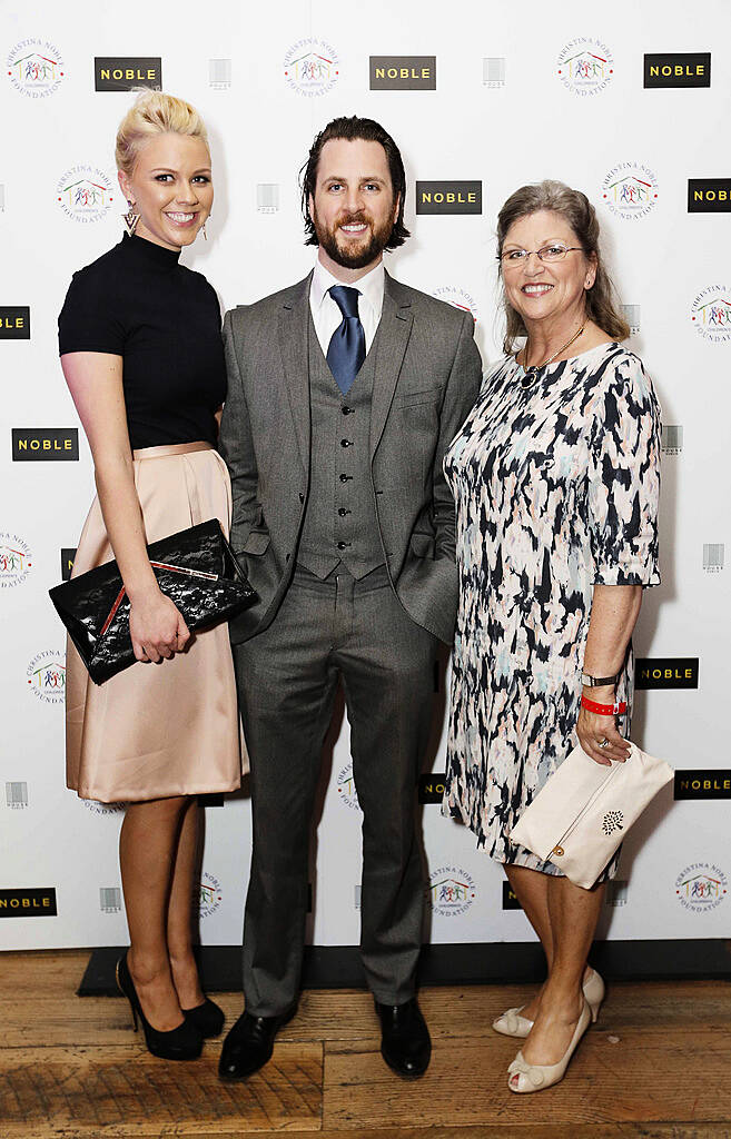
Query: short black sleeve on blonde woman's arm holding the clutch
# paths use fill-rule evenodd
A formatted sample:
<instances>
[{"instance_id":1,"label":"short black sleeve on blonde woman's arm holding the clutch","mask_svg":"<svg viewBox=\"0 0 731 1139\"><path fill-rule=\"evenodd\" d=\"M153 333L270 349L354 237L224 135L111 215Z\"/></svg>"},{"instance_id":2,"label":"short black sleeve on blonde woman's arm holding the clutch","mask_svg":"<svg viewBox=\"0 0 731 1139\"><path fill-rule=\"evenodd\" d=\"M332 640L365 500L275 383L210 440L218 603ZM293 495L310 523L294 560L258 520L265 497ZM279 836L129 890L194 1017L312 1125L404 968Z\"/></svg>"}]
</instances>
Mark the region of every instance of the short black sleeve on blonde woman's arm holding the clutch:
<instances>
[{"instance_id":1,"label":"short black sleeve on blonde woman's arm holding the clutch","mask_svg":"<svg viewBox=\"0 0 731 1139\"><path fill-rule=\"evenodd\" d=\"M58 352L124 355L125 331L108 284L98 273L74 273L58 317Z\"/></svg>"}]
</instances>

